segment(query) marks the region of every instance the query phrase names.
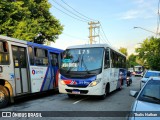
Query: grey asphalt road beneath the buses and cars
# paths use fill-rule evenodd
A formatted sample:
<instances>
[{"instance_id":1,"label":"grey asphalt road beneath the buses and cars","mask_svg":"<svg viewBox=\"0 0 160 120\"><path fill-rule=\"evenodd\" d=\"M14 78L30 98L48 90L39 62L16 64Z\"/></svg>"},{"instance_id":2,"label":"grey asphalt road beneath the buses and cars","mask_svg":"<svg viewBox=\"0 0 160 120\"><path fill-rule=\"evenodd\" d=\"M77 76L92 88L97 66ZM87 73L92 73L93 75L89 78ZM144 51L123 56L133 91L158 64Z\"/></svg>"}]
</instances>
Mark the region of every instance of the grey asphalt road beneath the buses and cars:
<instances>
[{"instance_id":1,"label":"grey asphalt road beneath the buses and cars","mask_svg":"<svg viewBox=\"0 0 160 120\"><path fill-rule=\"evenodd\" d=\"M6 117L0 119L126 120L126 116L124 115L121 116L118 114L118 112L121 113L122 111L130 111L134 98L129 96L129 91L130 90L138 91L140 87L139 82L140 82L140 77L133 77L133 83L131 86L129 87L123 86L122 90L120 91L116 90L110 93L105 100L99 100L98 97L93 97L93 96L77 96L71 99L68 98L66 94L58 94L53 92L20 98L17 99L14 104L11 104L6 108L1 109L0 111L1 112L11 111L12 114L13 112L22 112L24 113L23 118L17 117L16 114L14 114L13 115L14 117L12 118ZM28 116L28 113L25 114L25 111L33 113L35 113L36 111L41 111L42 117L38 118L26 117L25 115L27 114ZM43 111L45 112L43 113ZM94 112L89 112L89 111L94 111ZM108 111L111 111L111 116ZM64 117L55 117L56 116L55 113L58 116L64 116ZM44 117L43 114L47 114L49 117ZM71 115L72 117L66 117L67 115L68 116Z\"/></svg>"}]
</instances>

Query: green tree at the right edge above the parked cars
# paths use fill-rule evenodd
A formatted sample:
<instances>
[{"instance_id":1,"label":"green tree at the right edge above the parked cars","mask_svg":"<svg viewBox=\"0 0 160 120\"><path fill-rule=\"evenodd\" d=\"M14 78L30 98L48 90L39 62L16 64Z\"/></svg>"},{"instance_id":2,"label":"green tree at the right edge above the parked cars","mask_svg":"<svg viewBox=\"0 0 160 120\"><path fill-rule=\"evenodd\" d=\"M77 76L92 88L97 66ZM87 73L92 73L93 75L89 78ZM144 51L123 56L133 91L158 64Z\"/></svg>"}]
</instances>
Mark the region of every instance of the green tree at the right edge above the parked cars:
<instances>
[{"instance_id":1,"label":"green tree at the right edge above the parked cars","mask_svg":"<svg viewBox=\"0 0 160 120\"><path fill-rule=\"evenodd\" d=\"M138 58L144 63L148 69L160 70L160 38L147 38L136 49Z\"/></svg>"}]
</instances>

